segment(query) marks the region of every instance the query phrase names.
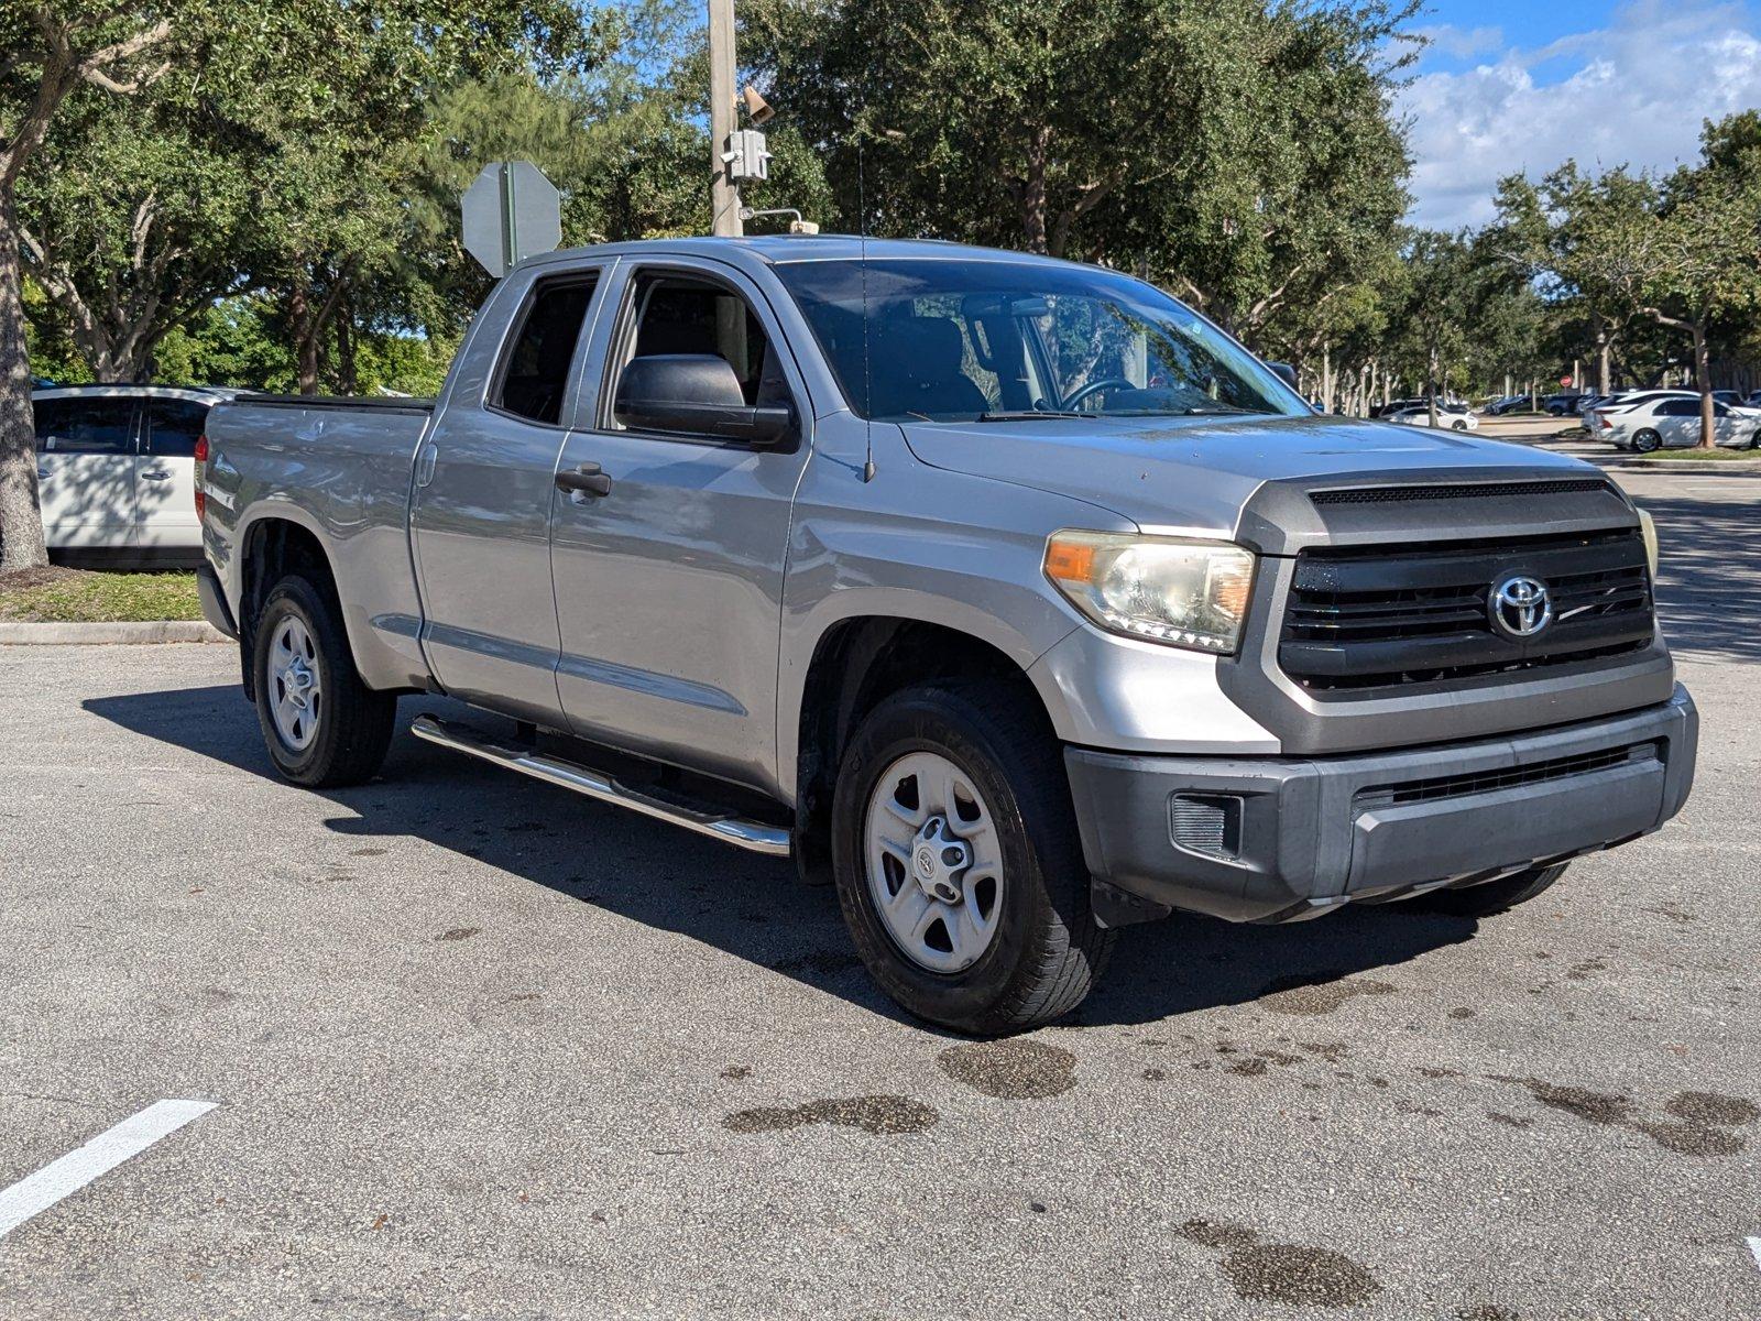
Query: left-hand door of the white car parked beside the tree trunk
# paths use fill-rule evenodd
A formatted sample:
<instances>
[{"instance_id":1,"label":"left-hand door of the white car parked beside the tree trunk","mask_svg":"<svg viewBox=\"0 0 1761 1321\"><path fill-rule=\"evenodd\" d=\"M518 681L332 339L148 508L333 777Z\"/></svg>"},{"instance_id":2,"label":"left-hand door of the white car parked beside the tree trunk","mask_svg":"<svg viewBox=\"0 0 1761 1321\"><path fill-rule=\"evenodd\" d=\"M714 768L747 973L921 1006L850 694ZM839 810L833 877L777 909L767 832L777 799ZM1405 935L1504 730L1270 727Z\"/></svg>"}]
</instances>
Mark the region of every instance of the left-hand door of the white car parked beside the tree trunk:
<instances>
[{"instance_id":1,"label":"left-hand door of the white car parked beside the tree trunk","mask_svg":"<svg viewBox=\"0 0 1761 1321\"><path fill-rule=\"evenodd\" d=\"M69 395L33 402L37 495L51 550L136 546L136 402Z\"/></svg>"}]
</instances>

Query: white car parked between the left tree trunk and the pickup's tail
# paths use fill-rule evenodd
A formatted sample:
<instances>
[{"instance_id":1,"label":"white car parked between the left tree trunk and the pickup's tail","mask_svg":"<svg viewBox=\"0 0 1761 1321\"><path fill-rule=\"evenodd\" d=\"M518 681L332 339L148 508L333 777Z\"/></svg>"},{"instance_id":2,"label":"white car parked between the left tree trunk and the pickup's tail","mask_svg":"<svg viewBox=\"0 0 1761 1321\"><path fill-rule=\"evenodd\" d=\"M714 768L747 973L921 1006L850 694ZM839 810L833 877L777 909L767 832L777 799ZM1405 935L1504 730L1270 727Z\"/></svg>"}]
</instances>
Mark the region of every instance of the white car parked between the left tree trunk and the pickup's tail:
<instances>
[{"instance_id":1,"label":"white car parked between the left tree trunk and the pickup's tail","mask_svg":"<svg viewBox=\"0 0 1761 1321\"><path fill-rule=\"evenodd\" d=\"M195 440L232 391L60 386L30 396L42 534L56 558L201 560Z\"/></svg>"}]
</instances>

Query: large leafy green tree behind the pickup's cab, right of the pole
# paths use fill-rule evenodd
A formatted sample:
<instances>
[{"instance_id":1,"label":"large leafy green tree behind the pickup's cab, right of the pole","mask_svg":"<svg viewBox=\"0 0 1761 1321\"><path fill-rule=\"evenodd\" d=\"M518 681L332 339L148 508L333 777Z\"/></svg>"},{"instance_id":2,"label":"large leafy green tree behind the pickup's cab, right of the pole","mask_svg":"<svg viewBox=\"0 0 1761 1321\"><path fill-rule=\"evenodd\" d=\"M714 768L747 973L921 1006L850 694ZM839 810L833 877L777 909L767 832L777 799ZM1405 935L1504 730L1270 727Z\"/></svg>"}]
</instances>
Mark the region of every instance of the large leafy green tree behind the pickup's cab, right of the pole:
<instances>
[{"instance_id":1,"label":"large leafy green tree behind the pickup's cab, right of the pole","mask_svg":"<svg viewBox=\"0 0 1761 1321\"><path fill-rule=\"evenodd\" d=\"M1168 278L1252 335L1391 252L1412 5L752 0L842 224Z\"/></svg>"}]
</instances>

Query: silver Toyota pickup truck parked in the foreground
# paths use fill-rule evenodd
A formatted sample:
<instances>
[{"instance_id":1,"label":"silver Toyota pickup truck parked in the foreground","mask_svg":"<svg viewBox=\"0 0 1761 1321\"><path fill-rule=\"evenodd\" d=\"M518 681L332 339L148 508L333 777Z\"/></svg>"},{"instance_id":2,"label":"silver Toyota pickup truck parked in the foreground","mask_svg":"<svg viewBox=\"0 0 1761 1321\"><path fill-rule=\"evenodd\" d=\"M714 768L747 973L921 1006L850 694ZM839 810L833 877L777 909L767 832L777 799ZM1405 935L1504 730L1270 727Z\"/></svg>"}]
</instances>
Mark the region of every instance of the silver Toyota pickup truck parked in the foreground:
<instances>
[{"instance_id":1,"label":"silver Toyota pickup truck parked in the foreground","mask_svg":"<svg viewBox=\"0 0 1761 1321\"><path fill-rule=\"evenodd\" d=\"M206 613L276 770L433 743L829 881L902 1006L1074 1007L1118 926L1486 916L1682 807L1650 523L1571 458L1315 416L1116 271L558 252L431 405L247 396Z\"/></svg>"}]
</instances>

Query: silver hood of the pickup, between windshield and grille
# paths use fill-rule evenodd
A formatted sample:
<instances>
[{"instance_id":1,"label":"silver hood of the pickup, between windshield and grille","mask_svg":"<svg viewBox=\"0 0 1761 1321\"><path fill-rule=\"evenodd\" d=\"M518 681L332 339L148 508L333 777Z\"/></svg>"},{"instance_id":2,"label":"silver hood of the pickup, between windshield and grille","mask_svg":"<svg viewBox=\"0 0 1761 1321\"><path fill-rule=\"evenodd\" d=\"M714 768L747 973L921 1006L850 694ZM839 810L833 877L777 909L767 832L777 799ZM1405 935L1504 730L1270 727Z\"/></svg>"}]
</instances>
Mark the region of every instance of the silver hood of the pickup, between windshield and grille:
<instances>
[{"instance_id":1,"label":"silver hood of the pickup, between windshield and grille","mask_svg":"<svg viewBox=\"0 0 1761 1321\"><path fill-rule=\"evenodd\" d=\"M903 432L932 467L1071 495L1145 528L1222 535L1234 532L1263 483L1595 474L1588 463L1529 446L1319 416L905 423Z\"/></svg>"}]
</instances>

